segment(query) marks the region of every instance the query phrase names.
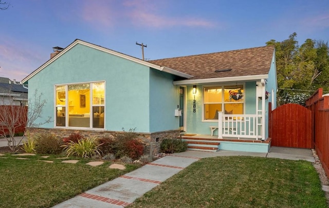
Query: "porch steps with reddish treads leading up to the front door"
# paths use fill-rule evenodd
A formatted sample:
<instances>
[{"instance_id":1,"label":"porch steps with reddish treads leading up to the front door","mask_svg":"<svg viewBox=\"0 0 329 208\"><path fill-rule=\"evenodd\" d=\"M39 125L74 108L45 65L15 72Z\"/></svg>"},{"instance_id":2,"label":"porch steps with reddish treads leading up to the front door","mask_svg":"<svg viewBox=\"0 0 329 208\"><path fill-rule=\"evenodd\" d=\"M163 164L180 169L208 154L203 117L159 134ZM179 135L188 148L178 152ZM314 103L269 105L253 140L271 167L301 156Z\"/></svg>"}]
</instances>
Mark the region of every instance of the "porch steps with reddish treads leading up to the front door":
<instances>
[{"instance_id":1,"label":"porch steps with reddish treads leading up to the front door","mask_svg":"<svg viewBox=\"0 0 329 208\"><path fill-rule=\"evenodd\" d=\"M217 139L205 139L205 138L188 138L181 137L182 141L186 141L189 150L198 150L205 152L217 152L220 142Z\"/></svg>"}]
</instances>

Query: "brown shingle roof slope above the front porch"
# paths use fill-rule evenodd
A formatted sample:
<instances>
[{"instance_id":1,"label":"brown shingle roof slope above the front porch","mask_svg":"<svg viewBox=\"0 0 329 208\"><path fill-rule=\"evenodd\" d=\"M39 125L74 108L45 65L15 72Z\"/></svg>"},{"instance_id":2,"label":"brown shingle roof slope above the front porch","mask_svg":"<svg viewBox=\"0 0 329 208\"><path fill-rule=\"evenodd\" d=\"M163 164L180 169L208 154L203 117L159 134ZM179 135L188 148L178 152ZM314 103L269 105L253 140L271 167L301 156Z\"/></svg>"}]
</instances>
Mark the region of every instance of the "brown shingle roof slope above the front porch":
<instances>
[{"instance_id":1,"label":"brown shingle roof slope above the front porch","mask_svg":"<svg viewBox=\"0 0 329 208\"><path fill-rule=\"evenodd\" d=\"M274 46L263 46L241 50L159 59L150 62L193 75L193 78L190 78L189 80L240 77L247 75L268 74L273 52ZM215 70L218 69L232 70L215 72Z\"/></svg>"}]
</instances>

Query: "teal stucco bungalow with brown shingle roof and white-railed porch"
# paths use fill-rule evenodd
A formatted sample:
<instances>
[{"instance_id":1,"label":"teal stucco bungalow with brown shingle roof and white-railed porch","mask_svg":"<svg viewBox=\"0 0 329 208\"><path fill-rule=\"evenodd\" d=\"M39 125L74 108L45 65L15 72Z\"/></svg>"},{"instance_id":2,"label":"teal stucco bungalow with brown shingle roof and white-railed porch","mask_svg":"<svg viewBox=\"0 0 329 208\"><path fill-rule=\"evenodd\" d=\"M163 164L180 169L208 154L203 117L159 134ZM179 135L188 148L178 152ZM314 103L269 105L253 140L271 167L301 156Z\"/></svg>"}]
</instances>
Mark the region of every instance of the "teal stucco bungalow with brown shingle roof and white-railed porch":
<instances>
[{"instance_id":1,"label":"teal stucco bungalow with brown shingle roof and white-railed porch","mask_svg":"<svg viewBox=\"0 0 329 208\"><path fill-rule=\"evenodd\" d=\"M162 139L177 137L196 150L268 152L268 103L276 106L277 92L273 46L154 61L81 40L54 50L22 81L43 93L42 116L53 117L30 134L134 129L151 153Z\"/></svg>"}]
</instances>

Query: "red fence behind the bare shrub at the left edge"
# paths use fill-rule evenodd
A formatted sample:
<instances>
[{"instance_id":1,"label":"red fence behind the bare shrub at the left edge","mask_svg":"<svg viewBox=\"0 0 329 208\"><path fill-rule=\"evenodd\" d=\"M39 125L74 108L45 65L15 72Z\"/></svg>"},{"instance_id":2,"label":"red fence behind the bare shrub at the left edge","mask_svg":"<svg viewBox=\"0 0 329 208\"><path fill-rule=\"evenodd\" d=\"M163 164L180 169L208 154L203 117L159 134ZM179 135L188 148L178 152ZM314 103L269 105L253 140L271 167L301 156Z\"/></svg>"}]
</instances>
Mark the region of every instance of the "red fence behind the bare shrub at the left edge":
<instances>
[{"instance_id":1,"label":"red fence behind the bare shrub at the left edge","mask_svg":"<svg viewBox=\"0 0 329 208\"><path fill-rule=\"evenodd\" d=\"M27 122L27 106L0 105L0 136L6 136L11 131L24 133Z\"/></svg>"}]
</instances>

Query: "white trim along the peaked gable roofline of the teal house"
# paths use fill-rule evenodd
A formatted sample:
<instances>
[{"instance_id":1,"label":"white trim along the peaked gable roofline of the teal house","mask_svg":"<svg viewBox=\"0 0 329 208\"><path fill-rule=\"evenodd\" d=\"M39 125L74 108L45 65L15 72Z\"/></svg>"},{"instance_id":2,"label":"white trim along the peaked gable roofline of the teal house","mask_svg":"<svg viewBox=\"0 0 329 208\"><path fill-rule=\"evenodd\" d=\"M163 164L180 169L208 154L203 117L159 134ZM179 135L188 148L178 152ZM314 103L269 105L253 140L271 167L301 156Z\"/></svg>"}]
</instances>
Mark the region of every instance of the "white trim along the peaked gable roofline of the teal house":
<instances>
[{"instance_id":1,"label":"white trim along the peaked gable roofline of the teal house","mask_svg":"<svg viewBox=\"0 0 329 208\"><path fill-rule=\"evenodd\" d=\"M101 46L97 46L97 45L94 45L94 44L91 44L91 43L88 43L88 42L84 42L84 41L81 41L81 40L78 40L77 39L73 43L71 43L70 45L68 45L65 49L63 49L59 54L57 54L52 59L48 60L46 63L44 63L42 66L40 66L38 69L36 69L32 73L30 73L26 78L24 78L21 81L21 83L25 83L26 81L28 81L29 79L31 79L35 74L39 73L42 69L46 68L49 64L51 64L52 62L54 62L57 59L59 59L64 53L66 53L68 50L70 50L71 48L73 48L74 46L76 46L78 44L81 44L81 45L84 45L84 46L87 46L87 47L90 47L90 48L94 48L96 50L100 50L100 51L103 51L105 53L116 55L116 56L118 56L120 58L129 60L129 61L133 61L135 63L142 64L144 66L148 66L148 67L151 67L151 68L160 70L160 71L163 70L165 72L172 73L174 75L179 75L180 77L184 77L184 78L191 78L191 77L193 77L193 76L191 76L189 74L182 73L182 72L176 71L174 69L170 69L168 67L161 67L159 65L152 64L150 62L143 61L141 59L137 59L137 58L135 58L133 56L126 55L126 54L123 54L123 53L119 53L117 51L114 51L114 50L111 50L111 49L107 49L107 48L104 48L104 47L101 47Z\"/></svg>"}]
</instances>

